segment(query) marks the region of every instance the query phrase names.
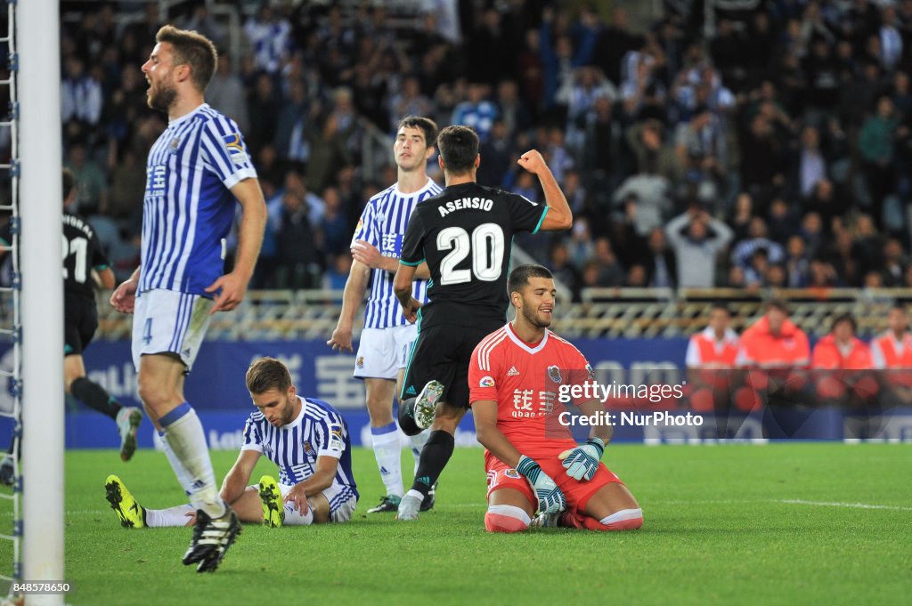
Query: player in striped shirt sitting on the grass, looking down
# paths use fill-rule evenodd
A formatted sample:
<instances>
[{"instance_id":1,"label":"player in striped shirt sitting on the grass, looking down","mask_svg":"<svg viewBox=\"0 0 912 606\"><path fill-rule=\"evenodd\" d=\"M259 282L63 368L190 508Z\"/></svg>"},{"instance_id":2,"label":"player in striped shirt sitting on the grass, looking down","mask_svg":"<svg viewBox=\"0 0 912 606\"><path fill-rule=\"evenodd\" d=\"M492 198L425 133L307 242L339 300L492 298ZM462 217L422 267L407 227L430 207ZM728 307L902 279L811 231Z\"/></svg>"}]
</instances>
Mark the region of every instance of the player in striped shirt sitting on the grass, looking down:
<instances>
[{"instance_id":1,"label":"player in striped shirt sitting on the grass, looking down","mask_svg":"<svg viewBox=\"0 0 912 606\"><path fill-rule=\"evenodd\" d=\"M257 411L244 425L244 444L222 484L222 498L244 522L267 526L347 522L358 503L351 472L348 426L321 400L297 395L288 368L260 358L247 370L247 389ZM248 486L261 455L279 467L279 481L264 476ZM106 481L107 498L125 527L184 526L190 505L141 507L116 476Z\"/></svg>"}]
</instances>

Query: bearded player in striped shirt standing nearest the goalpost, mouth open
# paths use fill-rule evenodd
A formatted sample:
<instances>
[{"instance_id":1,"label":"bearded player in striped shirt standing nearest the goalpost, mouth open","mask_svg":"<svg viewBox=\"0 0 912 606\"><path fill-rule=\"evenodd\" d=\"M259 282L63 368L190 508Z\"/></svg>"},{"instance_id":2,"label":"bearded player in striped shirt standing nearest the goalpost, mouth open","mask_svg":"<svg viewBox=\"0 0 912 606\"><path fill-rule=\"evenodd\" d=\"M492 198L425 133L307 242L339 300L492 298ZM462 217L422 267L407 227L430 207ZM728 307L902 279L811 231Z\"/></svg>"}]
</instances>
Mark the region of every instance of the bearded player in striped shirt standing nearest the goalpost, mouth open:
<instances>
[{"instance_id":1,"label":"bearded player in striped shirt standing nearest the goalpost, mouth open","mask_svg":"<svg viewBox=\"0 0 912 606\"><path fill-rule=\"evenodd\" d=\"M165 451L197 509L184 564L215 570L241 531L219 496L200 419L183 381L199 353L212 313L244 298L263 241L266 208L240 129L210 108L203 92L217 53L196 32L162 27L142 73L149 107L168 114L152 146L142 213L140 268L111 304L133 316L133 363L140 398L164 438ZM235 200L244 218L234 269L223 275L225 236Z\"/></svg>"}]
</instances>

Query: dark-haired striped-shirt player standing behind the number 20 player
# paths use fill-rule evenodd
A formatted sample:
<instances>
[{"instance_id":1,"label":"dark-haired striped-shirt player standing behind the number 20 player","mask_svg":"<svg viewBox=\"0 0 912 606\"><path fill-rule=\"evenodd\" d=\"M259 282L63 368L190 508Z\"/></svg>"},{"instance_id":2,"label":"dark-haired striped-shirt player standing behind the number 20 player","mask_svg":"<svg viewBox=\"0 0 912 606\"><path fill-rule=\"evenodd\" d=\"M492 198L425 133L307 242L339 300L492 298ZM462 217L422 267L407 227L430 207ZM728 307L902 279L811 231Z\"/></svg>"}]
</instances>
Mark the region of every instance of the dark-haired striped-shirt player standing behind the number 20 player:
<instances>
[{"instance_id":1,"label":"dark-haired striped-shirt player standing behind the number 20 player","mask_svg":"<svg viewBox=\"0 0 912 606\"><path fill-rule=\"evenodd\" d=\"M364 380L367 390L371 442L387 494L368 513L396 511L403 493L399 463L402 450L399 429L393 420L393 388L397 382L401 385L418 326L409 324L402 314L402 306L393 293L393 277L399 269L402 239L412 211L421 200L442 190L426 172L436 140L437 125L429 118L409 116L399 122L393 143L399 180L368 200L361 213L351 242L354 262L345 285L342 313L336 330L326 342L334 350L353 351L352 326L364 289L370 282L355 377ZM420 265L416 275L418 280L412 286L412 294L421 303L427 303L430 277L427 263ZM416 466L427 437L428 432L411 437ZM433 504L431 491L422 501L421 510L426 511Z\"/></svg>"}]
</instances>

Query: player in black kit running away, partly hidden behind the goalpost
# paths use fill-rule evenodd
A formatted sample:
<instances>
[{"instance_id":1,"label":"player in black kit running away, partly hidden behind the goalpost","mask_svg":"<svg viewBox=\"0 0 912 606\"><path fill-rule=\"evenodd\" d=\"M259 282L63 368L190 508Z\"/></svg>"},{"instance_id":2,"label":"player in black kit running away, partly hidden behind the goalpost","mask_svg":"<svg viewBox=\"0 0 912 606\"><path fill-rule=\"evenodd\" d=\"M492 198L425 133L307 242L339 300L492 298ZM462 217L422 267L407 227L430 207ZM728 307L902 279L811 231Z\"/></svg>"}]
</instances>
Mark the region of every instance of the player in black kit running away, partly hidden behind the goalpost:
<instances>
[{"instance_id":1,"label":"player in black kit running away, partly hidden behind the goalpost","mask_svg":"<svg viewBox=\"0 0 912 606\"><path fill-rule=\"evenodd\" d=\"M136 451L136 432L142 411L120 406L104 387L89 381L82 360L82 351L98 328L92 272L106 289L114 287L114 272L92 226L77 214L66 211L67 205L77 197L76 179L69 169L63 170L63 194L64 389L67 395L114 419L120 434L120 458L128 461ZM11 446L8 453L12 452ZM6 457L0 465L0 482L9 484L12 478L13 462L11 457Z\"/></svg>"}]
</instances>

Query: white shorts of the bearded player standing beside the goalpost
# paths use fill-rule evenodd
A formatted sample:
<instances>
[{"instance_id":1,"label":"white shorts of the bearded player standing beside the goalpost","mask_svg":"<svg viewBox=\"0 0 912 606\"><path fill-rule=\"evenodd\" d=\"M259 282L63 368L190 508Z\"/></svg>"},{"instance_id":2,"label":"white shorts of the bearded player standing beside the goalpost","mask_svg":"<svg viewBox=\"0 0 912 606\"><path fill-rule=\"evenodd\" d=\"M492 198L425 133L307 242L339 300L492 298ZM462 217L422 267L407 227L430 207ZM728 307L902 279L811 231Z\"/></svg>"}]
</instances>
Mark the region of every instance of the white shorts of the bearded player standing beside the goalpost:
<instances>
[{"instance_id":1,"label":"white shorts of the bearded player standing beside the goalpost","mask_svg":"<svg viewBox=\"0 0 912 606\"><path fill-rule=\"evenodd\" d=\"M149 354L180 356L190 372L212 318L212 299L157 289L140 293L133 310L133 365Z\"/></svg>"}]
</instances>

